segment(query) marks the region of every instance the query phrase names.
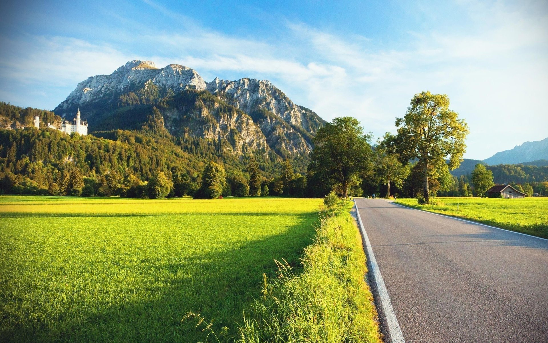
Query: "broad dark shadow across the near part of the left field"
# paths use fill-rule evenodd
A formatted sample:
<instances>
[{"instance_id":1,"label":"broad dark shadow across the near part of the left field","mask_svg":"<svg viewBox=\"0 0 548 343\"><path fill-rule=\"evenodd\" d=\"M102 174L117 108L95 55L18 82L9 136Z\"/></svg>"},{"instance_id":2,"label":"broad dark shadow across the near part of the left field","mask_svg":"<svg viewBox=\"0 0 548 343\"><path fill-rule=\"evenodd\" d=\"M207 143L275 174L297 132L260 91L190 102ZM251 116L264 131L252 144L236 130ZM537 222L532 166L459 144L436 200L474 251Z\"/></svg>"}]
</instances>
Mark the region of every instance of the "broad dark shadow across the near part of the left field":
<instances>
[{"instance_id":1,"label":"broad dark shadow across the near part of the left field","mask_svg":"<svg viewBox=\"0 0 548 343\"><path fill-rule=\"evenodd\" d=\"M296 217L298 224L281 234L245 241L238 246L223 246L222 251L192 256L185 263L149 266L143 273L157 275L162 269L164 275L173 275L173 278L167 285L161 282L147 285L146 296L139 301L124 300L119 305L90 312L65 309L55 316L27 313L25 320L3 312L1 340L205 342L208 331L201 329L212 319L215 332L226 326L229 334L234 335L237 333L235 322L242 323L243 311L260 296L262 273L269 278L277 276L273 258L285 258L299 271L302 249L312 243L315 234L313 223L317 213ZM125 297L132 293L131 289L127 291ZM198 328L197 320L181 322L188 312L200 313L208 322ZM216 342L213 336L208 341Z\"/></svg>"}]
</instances>

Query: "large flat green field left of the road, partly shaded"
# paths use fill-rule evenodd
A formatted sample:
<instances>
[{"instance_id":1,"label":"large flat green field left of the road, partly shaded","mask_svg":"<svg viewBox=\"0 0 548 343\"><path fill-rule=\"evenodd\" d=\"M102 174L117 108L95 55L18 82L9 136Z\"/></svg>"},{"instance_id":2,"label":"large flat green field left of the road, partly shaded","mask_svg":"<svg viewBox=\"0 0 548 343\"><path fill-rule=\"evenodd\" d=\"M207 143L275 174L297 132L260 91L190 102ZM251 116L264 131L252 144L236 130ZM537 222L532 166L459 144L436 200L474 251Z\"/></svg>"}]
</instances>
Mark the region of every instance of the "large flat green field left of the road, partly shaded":
<instances>
[{"instance_id":1,"label":"large flat green field left of the road, partly shaded","mask_svg":"<svg viewBox=\"0 0 548 343\"><path fill-rule=\"evenodd\" d=\"M209 341L238 333L273 262L315 237L321 199L0 196L0 337ZM238 323L238 324L236 324Z\"/></svg>"}]
</instances>

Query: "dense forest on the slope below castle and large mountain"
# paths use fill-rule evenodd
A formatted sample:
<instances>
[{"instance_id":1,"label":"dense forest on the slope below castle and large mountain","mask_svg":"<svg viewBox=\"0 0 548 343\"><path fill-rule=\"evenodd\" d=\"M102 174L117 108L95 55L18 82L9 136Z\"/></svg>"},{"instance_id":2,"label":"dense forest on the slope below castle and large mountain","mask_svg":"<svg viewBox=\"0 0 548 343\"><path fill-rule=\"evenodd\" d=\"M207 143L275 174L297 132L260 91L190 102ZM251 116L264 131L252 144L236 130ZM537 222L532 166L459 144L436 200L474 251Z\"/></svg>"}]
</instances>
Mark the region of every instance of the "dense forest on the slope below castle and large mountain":
<instances>
[{"instance_id":1,"label":"dense forest on the slope below castle and large mountain","mask_svg":"<svg viewBox=\"0 0 548 343\"><path fill-rule=\"evenodd\" d=\"M289 160L190 154L157 130L159 120L152 115L141 131L96 133L100 137L34 127L0 130L0 192L136 198L309 194L305 177ZM224 180L200 193L212 165L222 168Z\"/></svg>"}]
</instances>

